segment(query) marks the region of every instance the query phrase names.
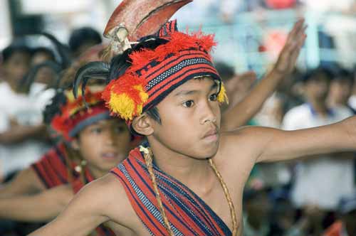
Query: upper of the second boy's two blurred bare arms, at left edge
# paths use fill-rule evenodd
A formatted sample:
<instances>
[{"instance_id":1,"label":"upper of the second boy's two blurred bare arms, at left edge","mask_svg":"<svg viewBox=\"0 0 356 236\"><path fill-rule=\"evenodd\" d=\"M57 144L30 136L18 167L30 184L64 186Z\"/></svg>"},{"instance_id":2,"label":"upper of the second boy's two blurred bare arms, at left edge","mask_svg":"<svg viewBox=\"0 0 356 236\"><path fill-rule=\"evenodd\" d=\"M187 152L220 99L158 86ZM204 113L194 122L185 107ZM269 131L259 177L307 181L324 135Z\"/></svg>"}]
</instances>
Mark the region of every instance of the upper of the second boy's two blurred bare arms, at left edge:
<instances>
[{"instance_id":1,"label":"upper of the second boy's two blurred bare arms, at left edge","mask_svg":"<svg viewBox=\"0 0 356 236\"><path fill-rule=\"evenodd\" d=\"M38 193L45 189L46 186L38 178L36 171L28 167L20 171L13 181L0 186L0 199Z\"/></svg>"}]
</instances>

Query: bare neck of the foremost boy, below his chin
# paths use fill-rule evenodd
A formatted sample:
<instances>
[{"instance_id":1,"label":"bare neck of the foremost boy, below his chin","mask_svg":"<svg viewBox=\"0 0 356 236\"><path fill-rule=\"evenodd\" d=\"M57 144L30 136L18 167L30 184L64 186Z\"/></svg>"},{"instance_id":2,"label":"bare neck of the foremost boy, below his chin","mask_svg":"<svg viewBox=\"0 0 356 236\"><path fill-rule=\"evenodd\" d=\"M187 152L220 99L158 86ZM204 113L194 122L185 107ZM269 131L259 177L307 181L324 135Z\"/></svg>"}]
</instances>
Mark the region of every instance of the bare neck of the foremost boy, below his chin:
<instances>
[{"instance_id":1,"label":"bare neck of the foremost boy, below his chin","mask_svg":"<svg viewBox=\"0 0 356 236\"><path fill-rule=\"evenodd\" d=\"M150 140L150 147L155 165L192 190L200 187L204 191L201 183L211 183L212 178L216 178L207 159L194 159L179 154L157 140Z\"/></svg>"}]
</instances>

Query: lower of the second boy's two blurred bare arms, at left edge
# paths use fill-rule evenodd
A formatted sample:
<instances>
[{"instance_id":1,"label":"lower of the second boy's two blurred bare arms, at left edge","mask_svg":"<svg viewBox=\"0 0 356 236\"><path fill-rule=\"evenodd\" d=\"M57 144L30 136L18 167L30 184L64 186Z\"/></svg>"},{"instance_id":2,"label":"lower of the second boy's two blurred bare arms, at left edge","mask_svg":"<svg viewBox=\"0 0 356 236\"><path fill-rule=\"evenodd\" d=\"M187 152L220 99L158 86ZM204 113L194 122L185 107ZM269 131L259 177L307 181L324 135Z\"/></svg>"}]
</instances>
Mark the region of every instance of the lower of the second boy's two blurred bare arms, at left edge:
<instances>
[{"instance_id":1,"label":"lower of the second boy's two blurred bare arms, at left edge","mask_svg":"<svg viewBox=\"0 0 356 236\"><path fill-rule=\"evenodd\" d=\"M51 188L36 195L0 199L0 218L43 222L56 218L73 198L70 185Z\"/></svg>"}]
</instances>

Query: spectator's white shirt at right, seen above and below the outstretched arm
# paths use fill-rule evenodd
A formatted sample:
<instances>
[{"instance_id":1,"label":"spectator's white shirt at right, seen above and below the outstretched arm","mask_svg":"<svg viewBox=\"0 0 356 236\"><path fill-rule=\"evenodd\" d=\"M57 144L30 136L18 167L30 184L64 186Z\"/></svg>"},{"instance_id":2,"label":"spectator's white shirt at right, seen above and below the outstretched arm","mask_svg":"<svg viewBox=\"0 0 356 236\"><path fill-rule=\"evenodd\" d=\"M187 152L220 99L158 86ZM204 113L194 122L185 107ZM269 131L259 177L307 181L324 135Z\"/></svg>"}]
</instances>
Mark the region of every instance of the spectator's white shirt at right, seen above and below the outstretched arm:
<instances>
[{"instance_id":1,"label":"spectator's white shirt at right, seen above and below the outstretched arm","mask_svg":"<svg viewBox=\"0 0 356 236\"><path fill-rule=\"evenodd\" d=\"M352 115L350 109L344 107L337 107L329 113L328 117L319 117L309 104L302 104L287 112L283 119L283 129L319 127L340 122ZM332 154L300 161L295 168L293 203L297 207L313 204L324 210L335 210L342 195L349 195L355 189L352 163L352 160L337 159Z\"/></svg>"}]
</instances>

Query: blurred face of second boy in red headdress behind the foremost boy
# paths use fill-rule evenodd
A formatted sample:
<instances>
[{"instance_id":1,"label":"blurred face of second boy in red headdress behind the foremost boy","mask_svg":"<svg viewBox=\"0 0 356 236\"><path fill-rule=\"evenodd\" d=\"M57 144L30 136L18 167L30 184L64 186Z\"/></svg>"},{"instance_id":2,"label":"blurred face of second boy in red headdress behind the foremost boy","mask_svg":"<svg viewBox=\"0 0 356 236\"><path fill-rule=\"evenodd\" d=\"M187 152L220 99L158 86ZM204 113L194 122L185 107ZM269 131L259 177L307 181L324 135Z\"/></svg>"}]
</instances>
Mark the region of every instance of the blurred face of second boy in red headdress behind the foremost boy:
<instances>
[{"instance_id":1,"label":"blurred face of second boy in red headdress behind the foremost boy","mask_svg":"<svg viewBox=\"0 0 356 236\"><path fill-rule=\"evenodd\" d=\"M104 119L85 127L74 142L87 165L110 171L130 151L131 135L121 119Z\"/></svg>"}]
</instances>

